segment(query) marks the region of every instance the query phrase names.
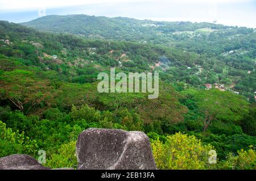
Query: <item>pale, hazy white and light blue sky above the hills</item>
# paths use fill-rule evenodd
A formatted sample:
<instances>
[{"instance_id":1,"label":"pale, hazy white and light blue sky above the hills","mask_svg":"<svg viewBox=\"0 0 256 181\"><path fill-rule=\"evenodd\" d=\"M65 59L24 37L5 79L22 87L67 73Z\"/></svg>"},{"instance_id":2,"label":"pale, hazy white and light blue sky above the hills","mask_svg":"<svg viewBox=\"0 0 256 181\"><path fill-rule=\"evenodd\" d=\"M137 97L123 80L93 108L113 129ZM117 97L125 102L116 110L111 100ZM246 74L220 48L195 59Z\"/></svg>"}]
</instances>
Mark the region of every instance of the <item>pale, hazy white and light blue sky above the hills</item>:
<instances>
[{"instance_id":1,"label":"pale, hazy white and light blue sky above the hills","mask_svg":"<svg viewBox=\"0 0 256 181\"><path fill-rule=\"evenodd\" d=\"M256 0L0 0L0 20L21 23L53 14L216 21L256 28Z\"/></svg>"}]
</instances>

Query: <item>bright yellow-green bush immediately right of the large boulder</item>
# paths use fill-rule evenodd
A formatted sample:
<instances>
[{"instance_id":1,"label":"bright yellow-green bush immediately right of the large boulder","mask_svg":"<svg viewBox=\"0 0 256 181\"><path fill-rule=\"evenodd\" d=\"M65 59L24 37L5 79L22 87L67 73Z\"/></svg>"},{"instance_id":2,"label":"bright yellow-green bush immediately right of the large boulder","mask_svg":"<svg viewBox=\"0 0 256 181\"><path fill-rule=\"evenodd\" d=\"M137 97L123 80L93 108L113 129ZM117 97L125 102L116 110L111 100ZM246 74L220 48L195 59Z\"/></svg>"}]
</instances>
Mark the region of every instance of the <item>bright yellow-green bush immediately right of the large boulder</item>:
<instances>
[{"instance_id":1,"label":"bright yellow-green bush immediately right of the large boulder","mask_svg":"<svg viewBox=\"0 0 256 181\"><path fill-rule=\"evenodd\" d=\"M167 141L152 141L152 152L158 169L207 169L211 145L203 145L195 136L176 133Z\"/></svg>"}]
</instances>

